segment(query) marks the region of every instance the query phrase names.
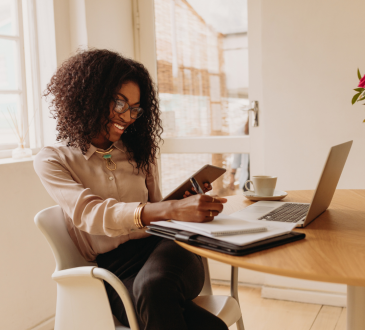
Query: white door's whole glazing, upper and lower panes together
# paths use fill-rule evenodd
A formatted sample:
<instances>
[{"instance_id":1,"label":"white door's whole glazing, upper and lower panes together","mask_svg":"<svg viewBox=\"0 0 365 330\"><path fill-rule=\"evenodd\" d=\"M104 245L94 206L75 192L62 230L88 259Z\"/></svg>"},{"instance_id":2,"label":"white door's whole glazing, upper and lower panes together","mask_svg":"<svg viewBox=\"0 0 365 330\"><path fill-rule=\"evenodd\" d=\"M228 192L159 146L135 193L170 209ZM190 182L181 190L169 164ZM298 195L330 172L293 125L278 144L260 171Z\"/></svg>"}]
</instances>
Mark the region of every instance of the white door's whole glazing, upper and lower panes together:
<instances>
[{"instance_id":1,"label":"white door's whole glazing, upper and lower panes together","mask_svg":"<svg viewBox=\"0 0 365 330\"><path fill-rule=\"evenodd\" d=\"M203 149L189 153L188 148L181 151L178 145L181 146L184 139L186 144L198 139L210 139L208 143L212 144L215 143L213 138L217 141L219 137L224 139L247 134L248 112L245 110L249 100L245 1L154 2L163 138L166 142L180 139L174 148L161 155L163 195L207 163L227 169L227 175L213 184L214 193L241 193L241 189L232 191L229 175L231 168L237 170L235 186L238 188L240 172L248 173L248 168L241 171L232 167L233 154L225 151L222 154L207 153ZM230 143L228 139L225 141ZM164 150L166 148L162 152ZM233 152L240 153L238 149ZM248 164L248 159L244 163Z\"/></svg>"}]
</instances>

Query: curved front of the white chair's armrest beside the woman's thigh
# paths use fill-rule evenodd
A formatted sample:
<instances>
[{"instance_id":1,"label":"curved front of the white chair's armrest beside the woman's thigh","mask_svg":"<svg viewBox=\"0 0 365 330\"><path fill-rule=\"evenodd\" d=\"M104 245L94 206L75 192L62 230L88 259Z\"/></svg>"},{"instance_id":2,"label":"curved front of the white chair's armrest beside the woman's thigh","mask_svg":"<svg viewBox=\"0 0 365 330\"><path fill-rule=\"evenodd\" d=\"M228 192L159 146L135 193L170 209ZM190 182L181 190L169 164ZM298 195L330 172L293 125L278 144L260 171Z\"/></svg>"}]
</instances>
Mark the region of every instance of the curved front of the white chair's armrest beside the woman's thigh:
<instances>
[{"instance_id":1,"label":"curved front of the white chair's armrest beside the woman's thigh","mask_svg":"<svg viewBox=\"0 0 365 330\"><path fill-rule=\"evenodd\" d=\"M113 289L118 293L119 297L122 299L124 308L127 312L127 317L131 330L139 330L137 316L134 310L132 299L122 281L112 272L104 268L94 267L92 269L92 273L94 277L108 282L113 287Z\"/></svg>"}]
</instances>

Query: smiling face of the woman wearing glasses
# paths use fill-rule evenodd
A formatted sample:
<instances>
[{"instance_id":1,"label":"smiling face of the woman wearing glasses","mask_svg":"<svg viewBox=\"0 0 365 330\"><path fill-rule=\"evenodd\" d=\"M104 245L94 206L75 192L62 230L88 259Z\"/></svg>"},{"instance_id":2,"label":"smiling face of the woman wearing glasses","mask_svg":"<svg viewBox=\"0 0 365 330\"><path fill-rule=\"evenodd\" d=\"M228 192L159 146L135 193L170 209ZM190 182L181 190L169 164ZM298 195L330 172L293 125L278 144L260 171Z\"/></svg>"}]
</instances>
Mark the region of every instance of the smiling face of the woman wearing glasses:
<instances>
[{"instance_id":1,"label":"smiling face of the woman wearing glasses","mask_svg":"<svg viewBox=\"0 0 365 330\"><path fill-rule=\"evenodd\" d=\"M126 101L131 108L139 107L140 102L140 89L135 82L126 82L122 85L119 91L114 96L115 99ZM118 141L126 128L133 124L136 119L131 118L130 110L118 114L114 111L115 102L111 101L109 105L109 120L108 131L102 130L99 135L94 138L91 143L101 149L107 149L112 143Z\"/></svg>"}]
</instances>

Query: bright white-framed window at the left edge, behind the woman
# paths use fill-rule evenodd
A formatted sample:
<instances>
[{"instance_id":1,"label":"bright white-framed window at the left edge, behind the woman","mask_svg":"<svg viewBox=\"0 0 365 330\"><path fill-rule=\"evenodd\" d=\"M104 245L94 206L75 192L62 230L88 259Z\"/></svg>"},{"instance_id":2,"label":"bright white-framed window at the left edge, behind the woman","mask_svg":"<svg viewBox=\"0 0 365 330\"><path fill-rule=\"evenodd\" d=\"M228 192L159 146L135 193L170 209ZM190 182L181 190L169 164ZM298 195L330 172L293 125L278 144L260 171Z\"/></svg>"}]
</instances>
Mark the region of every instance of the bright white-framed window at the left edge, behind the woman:
<instances>
[{"instance_id":1,"label":"bright white-framed window at the left edge, behind the woman","mask_svg":"<svg viewBox=\"0 0 365 330\"><path fill-rule=\"evenodd\" d=\"M0 0L0 156L17 147L19 134L26 147L40 147L39 92L35 61L32 1ZM10 112L10 114L9 114Z\"/></svg>"}]
</instances>

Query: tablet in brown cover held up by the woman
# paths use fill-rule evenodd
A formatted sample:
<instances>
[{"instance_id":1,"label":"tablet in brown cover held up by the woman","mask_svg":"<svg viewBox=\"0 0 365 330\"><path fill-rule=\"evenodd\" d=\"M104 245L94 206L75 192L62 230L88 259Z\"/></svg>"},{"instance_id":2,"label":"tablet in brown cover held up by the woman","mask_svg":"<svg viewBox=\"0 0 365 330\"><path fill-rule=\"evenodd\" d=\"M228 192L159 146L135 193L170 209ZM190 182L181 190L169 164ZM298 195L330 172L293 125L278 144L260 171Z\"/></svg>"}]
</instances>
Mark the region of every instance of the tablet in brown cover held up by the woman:
<instances>
[{"instance_id":1,"label":"tablet in brown cover held up by the woman","mask_svg":"<svg viewBox=\"0 0 365 330\"><path fill-rule=\"evenodd\" d=\"M200 170L194 173L191 177L195 178L200 187L204 186L204 183L209 182L212 183L216 179L218 179L223 173L226 172L225 168L213 166L213 165L204 165ZM173 199L183 199L185 191L192 189L192 184L190 182L190 178L186 179L180 186L174 189L171 193L169 193L163 201L169 201Z\"/></svg>"}]
</instances>

